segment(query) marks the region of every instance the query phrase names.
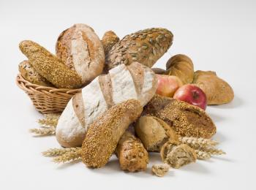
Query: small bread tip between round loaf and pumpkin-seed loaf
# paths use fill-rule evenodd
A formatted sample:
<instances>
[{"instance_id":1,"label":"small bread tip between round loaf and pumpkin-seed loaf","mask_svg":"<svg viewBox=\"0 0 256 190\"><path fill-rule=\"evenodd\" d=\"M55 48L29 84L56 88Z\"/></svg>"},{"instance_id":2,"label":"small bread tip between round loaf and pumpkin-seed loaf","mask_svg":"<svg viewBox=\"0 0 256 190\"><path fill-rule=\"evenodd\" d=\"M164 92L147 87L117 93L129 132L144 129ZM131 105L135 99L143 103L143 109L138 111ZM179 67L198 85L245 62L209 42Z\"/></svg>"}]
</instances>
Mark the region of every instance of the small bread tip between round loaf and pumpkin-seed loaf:
<instances>
[{"instance_id":1,"label":"small bread tip between round loaf and pumpkin-seed loaf","mask_svg":"<svg viewBox=\"0 0 256 190\"><path fill-rule=\"evenodd\" d=\"M102 37L102 45L104 49L105 55L108 54L108 52L111 50L113 45L115 45L117 42L119 42L118 36L116 36L115 32L113 31L106 31L105 34Z\"/></svg>"}]
</instances>

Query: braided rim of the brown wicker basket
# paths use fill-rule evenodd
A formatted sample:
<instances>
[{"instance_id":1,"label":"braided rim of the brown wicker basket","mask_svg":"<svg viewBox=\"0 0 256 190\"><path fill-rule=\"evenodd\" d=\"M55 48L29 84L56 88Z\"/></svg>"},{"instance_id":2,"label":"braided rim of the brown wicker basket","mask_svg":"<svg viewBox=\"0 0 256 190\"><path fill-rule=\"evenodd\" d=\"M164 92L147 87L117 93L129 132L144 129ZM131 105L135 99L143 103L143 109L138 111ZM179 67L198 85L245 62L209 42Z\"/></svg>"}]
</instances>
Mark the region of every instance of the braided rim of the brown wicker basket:
<instances>
[{"instance_id":1,"label":"braided rim of the brown wicker basket","mask_svg":"<svg viewBox=\"0 0 256 190\"><path fill-rule=\"evenodd\" d=\"M21 88L23 91L28 91L31 93L34 93L37 91L38 93L43 94L67 94L67 95L73 95L81 91L82 88L77 89L68 89L68 88L54 88L49 86L39 86L34 83L30 83L28 80L24 79L24 77L19 73L16 77L16 84L19 88Z\"/></svg>"}]
</instances>

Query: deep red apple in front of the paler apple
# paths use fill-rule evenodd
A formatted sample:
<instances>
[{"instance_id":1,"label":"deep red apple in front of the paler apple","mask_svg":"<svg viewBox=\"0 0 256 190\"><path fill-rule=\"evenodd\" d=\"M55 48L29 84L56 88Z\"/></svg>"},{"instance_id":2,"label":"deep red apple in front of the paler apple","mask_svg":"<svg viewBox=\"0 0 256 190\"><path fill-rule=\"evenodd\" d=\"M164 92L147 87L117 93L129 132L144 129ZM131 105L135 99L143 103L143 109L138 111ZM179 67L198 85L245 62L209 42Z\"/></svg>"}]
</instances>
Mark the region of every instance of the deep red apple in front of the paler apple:
<instances>
[{"instance_id":1,"label":"deep red apple in front of the paler apple","mask_svg":"<svg viewBox=\"0 0 256 190\"><path fill-rule=\"evenodd\" d=\"M198 86L187 84L178 88L173 98L206 110L206 94Z\"/></svg>"}]
</instances>

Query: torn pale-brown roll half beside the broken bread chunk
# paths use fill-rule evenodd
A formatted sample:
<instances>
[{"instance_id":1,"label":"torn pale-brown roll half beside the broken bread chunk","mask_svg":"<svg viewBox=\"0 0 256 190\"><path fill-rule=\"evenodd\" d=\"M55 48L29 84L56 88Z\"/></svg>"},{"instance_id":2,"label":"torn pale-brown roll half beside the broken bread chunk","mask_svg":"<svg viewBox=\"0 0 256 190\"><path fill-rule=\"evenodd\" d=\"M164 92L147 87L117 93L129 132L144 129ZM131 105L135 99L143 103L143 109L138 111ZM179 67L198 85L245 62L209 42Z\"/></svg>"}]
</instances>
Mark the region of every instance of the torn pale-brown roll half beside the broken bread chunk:
<instances>
[{"instance_id":1,"label":"torn pale-brown roll half beside the broken bread chunk","mask_svg":"<svg viewBox=\"0 0 256 190\"><path fill-rule=\"evenodd\" d=\"M178 140L174 130L162 119L154 116L141 116L135 123L135 132L147 151L161 150L168 140Z\"/></svg>"}]
</instances>

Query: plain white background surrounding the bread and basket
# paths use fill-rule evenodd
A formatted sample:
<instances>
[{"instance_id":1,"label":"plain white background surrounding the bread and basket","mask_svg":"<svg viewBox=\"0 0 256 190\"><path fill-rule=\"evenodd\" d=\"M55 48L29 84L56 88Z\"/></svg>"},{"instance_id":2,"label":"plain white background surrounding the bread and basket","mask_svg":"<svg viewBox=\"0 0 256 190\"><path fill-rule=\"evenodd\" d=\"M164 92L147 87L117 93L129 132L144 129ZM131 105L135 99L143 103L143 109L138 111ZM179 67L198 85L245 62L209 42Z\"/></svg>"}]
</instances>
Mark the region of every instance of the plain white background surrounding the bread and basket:
<instances>
[{"instance_id":1,"label":"plain white background surrounding the bread and basket","mask_svg":"<svg viewBox=\"0 0 256 190\"><path fill-rule=\"evenodd\" d=\"M256 170L256 1L0 1L0 189L255 189ZM164 178L127 173L113 157L106 167L89 170L82 163L58 165L41 151L58 148L54 136L32 137L42 115L15 85L25 59L18 43L31 39L54 53L56 38L74 23L86 23L99 37L116 31L124 37L150 27L168 28L170 56L190 56L195 69L214 70L233 86L230 104L207 108L217 125L215 140L227 152L197 161Z\"/></svg>"}]
</instances>

